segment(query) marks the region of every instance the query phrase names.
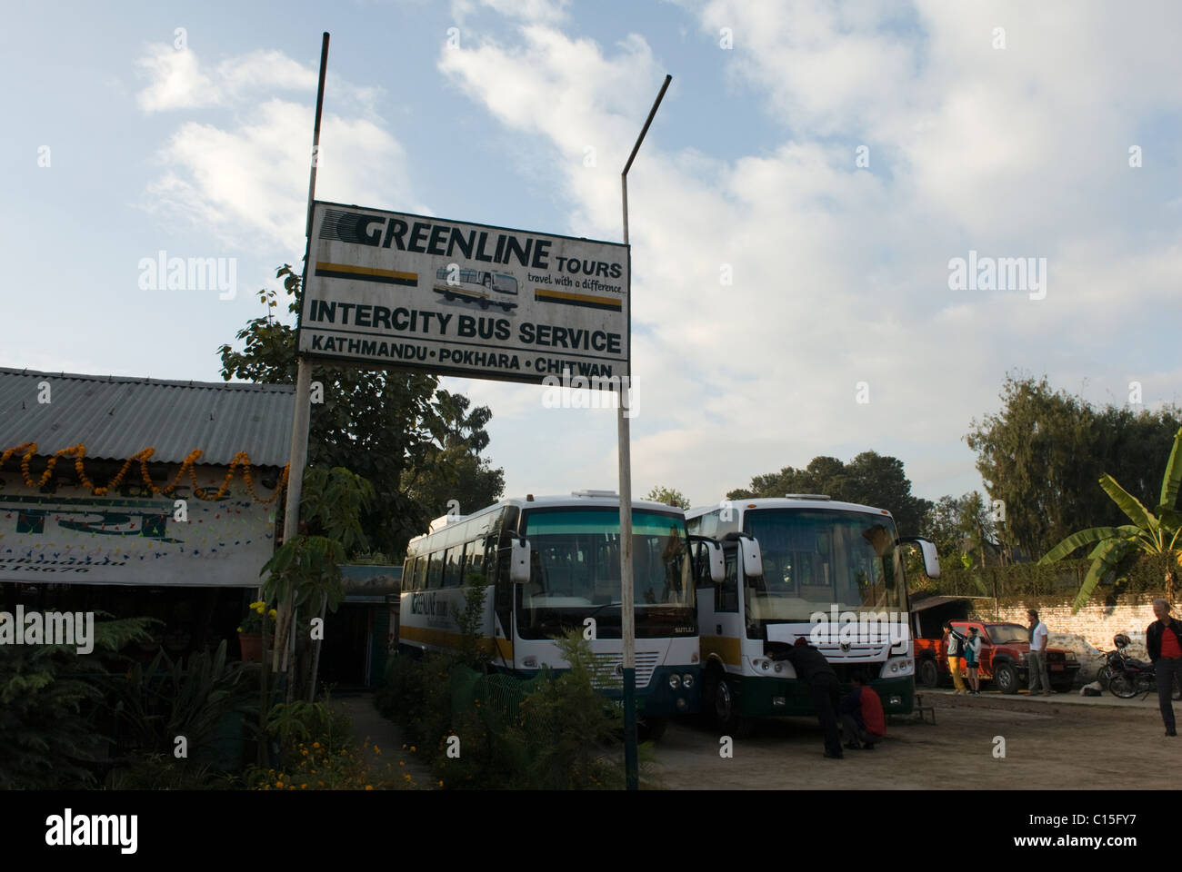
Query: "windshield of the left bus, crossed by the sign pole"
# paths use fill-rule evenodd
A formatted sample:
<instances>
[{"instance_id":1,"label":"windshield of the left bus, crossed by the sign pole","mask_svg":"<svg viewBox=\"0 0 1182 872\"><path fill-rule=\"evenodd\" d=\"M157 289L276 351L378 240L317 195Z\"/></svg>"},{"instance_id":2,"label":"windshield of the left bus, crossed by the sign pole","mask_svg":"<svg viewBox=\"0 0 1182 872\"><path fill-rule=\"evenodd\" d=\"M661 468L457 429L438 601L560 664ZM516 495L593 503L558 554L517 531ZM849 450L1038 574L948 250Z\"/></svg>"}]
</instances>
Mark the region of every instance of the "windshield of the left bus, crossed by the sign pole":
<instances>
[{"instance_id":1,"label":"windshield of the left bus, crossed by the sign pole","mask_svg":"<svg viewBox=\"0 0 1182 872\"><path fill-rule=\"evenodd\" d=\"M534 509L526 513L532 549L528 584L519 586L518 631L546 638L596 620L597 638L618 638L619 510ZM675 515L632 512L636 636L697 632L686 523Z\"/></svg>"}]
</instances>

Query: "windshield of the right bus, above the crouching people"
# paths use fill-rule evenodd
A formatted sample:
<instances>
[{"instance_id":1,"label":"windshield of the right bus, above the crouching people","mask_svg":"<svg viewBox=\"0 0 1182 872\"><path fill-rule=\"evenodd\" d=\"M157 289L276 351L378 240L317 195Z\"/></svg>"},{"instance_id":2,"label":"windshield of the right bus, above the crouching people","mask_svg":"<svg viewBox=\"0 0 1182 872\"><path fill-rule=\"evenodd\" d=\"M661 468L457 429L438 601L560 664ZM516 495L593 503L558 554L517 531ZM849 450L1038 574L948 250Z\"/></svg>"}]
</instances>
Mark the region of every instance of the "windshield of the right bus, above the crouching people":
<instances>
[{"instance_id":1,"label":"windshield of the right bus, above the crouching people","mask_svg":"<svg viewBox=\"0 0 1182 872\"><path fill-rule=\"evenodd\" d=\"M753 509L764 577L747 579L748 620L808 620L816 612L902 611L905 581L886 515L833 509Z\"/></svg>"}]
</instances>

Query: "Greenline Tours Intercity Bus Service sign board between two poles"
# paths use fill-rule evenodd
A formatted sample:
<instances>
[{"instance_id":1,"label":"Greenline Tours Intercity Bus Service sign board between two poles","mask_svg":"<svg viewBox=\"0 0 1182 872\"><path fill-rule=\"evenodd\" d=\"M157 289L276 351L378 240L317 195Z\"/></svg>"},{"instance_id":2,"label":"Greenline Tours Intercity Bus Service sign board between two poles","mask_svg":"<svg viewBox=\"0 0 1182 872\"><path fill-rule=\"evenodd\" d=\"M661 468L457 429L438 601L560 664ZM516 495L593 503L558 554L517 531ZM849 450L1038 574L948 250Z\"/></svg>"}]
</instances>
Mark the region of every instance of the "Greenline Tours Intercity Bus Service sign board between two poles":
<instances>
[{"instance_id":1,"label":"Greenline Tours Intercity Bus Service sign board between two poles","mask_svg":"<svg viewBox=\"0 0 1182 872\"><path fill-rule=\"evenodd\" d=\"M541 383L630 376L628 246L317 201L299 353Z\"/></svg>"}]
</instances>

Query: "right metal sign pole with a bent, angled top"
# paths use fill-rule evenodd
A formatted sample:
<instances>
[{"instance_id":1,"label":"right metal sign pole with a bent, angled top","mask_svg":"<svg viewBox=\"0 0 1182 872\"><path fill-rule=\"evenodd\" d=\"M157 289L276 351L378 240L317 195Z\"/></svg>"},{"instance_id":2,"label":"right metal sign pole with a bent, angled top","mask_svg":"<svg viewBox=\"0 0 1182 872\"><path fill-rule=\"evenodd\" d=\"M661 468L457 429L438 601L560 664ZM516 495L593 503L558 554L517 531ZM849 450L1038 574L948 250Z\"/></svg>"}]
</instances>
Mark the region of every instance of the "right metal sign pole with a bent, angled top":
<instances>
[{"instance_id":1,"label":"right metal sign pole with a bent, angled top","mask_svg":"<svg viewBox=\"0 0 1182 872\"><path fill-rule=\"evenodd\" d=\"M649 117L641 129L641 135L636 137L632 154L628 156L624 171L619 174L619 188L624 207L624 245L628 245L628 170L632 168L636 152L641 149L644 135L649 132L652 117L657 113L657 108L664 98L664 92L669 89L673 76L665 76L661 92L652 103ZM629 300L631 306L631 300ZM631 343L631 334L629 334ZM629 359L632 357L632 349L628 349ZM629 790L639 789L639 766L636 753L636 609L632 603L632 451L631 435L629 432L629 391L631 390L631 377L629 384L619 386L619 406L617 411L617 430L619 436L619 612L621 612L621 636L624 649L624 775Z\"/></svg>"}]
</instances>

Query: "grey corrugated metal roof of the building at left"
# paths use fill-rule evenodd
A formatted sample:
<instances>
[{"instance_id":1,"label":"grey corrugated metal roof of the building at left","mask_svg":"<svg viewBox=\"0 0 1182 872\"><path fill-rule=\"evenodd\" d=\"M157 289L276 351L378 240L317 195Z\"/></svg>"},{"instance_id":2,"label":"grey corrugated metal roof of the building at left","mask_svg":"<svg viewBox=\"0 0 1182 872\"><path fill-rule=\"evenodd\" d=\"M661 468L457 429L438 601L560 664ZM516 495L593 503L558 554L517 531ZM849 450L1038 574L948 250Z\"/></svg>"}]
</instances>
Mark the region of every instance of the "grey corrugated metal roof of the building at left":
<instances>
[{"instance_id":1,"label":"grey corrugated metal roof of the building at left","mask_svg":"<svg viewBox=\"0 0 1182 872\"><path fill-rule=\"evenodd\" d=\"M39 403L41 382L50 403ZM86 445L87 457L124 460L155 448L152 461L228 464L239 451L282 467L291 449L296 388L229 382L164 382L0 366L0 450L35 442L39 455Z\"/></svg>"}]
</instances>

